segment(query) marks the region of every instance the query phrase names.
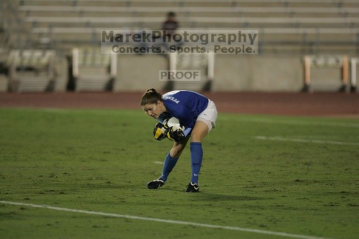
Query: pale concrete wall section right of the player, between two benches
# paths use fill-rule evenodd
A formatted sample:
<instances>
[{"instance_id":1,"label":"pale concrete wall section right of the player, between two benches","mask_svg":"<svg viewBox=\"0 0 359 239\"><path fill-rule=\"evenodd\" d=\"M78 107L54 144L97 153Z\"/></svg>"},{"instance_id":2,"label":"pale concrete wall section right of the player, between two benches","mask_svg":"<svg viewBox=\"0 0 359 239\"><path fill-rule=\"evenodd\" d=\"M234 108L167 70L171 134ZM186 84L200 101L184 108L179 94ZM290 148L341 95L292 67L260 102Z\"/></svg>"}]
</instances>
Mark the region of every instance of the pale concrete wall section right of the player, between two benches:
<instances>
[{"instance_id":1,"label":"pale concrete wall section right of the player, between two benches","mask_svg":"<svg viewBox=\"0 0 359 239\"><path fill-rule=\"evenodd\" d=\"M303 87L300 57L215 55L214 91L298 91Z\"/></svg>"}]
</instances>

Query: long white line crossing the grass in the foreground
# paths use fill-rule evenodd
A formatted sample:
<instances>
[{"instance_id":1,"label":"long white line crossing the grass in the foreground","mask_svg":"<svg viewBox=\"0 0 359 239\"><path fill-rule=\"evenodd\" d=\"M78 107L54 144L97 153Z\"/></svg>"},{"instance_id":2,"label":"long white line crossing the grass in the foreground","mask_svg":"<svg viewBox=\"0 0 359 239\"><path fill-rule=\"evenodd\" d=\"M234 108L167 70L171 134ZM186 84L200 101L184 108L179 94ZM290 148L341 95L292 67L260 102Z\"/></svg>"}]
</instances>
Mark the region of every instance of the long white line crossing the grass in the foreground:
<instances>
[{"instance_id":1,"label":"long white line crossing the grass in the foreground","mask_svg":"<svg viewBox=\"0 0 359 239\"><path fill-rule=\"evenodd\" d=\"M144 221L161 222L161 223L181 224L181 225L189 225L189 226L196 226L196 227L218 228L218 229L227 229L227 230L234 230L234 231L245 231L245 232L253 232L253 233L268 234L268 235L277 235L277 236L287 236L287 237L293 237L293 238L330 239L330 238L325 238L325 237L307 236L307 235L300 235L300 234L291 234L291 233L286 233L286 232L265 231L265 230L257 230L257 229L243 228L243 227L219 226L219 225L212 225L212 224L203 224L203 223L192 223L192 222L185 222L185 221L167 220L167 219L153 218L153 217L142 217L142 216L131 216L131 215L115 214L115 213L95 212L95 211L78 210L78 209L70 209L70 208L52 207L52 206L48 206L48 205L36 205L36 204L16 203L16 202L8 202L8 201L0 201L0 203L19 205L19 206L27 206L27 207L34 207L34 208L46 208L46 209L52 209L52 210L57 210L57 211L77 212L77 213L102 215L102 216L110 216L110 217L122 217L122 218L134 219L134 220L144 220Z\"/></svg>"}]
</instances>

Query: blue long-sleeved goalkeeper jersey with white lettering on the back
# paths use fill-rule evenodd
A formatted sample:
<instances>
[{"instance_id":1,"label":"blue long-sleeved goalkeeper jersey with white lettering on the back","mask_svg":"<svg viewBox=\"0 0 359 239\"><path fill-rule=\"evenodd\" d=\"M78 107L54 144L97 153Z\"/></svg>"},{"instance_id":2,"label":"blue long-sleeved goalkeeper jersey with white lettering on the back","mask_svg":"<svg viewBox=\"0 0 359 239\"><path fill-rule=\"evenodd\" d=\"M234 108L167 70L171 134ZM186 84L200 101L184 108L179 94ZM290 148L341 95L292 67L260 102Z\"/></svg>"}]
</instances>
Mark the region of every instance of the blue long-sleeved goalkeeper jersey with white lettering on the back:
<instances>
[{"instance_id":1,"label":"blue long-sleeved goalkeeper jersey with white lettering on the back","mask_svg":"<svg viewBox=\"0 0 359 239\"><path fill-rule=\"evenodd\" d=\"M162 113L158 121L176 117L185 126L185 135L191 133L198 115L208 106L208 98L200 93L188 90L174 90L163 95L163 102L168 112Z\"/></svg>"}]
</instances>

